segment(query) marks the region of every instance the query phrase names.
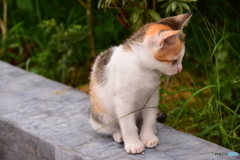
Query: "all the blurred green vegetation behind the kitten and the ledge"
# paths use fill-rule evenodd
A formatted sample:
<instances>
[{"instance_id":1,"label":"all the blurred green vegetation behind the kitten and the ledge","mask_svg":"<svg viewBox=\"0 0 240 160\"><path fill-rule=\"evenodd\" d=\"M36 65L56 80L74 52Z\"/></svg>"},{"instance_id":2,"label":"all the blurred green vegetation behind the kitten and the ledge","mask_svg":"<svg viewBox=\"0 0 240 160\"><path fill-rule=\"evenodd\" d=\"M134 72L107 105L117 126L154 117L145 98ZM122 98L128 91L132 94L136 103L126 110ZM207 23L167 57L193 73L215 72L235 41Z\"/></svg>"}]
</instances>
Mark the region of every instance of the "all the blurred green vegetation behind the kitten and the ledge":
<instances>
[{"instance_id":1,"label":"all the blurred green vegetation behind the kitten and the ledge","mask_svg":"<svg viewBox=\"0 0 240 160\"><path fill-rule=\"evenodd\" d=\"M164 123L240 152L239 3L1 0L0 60L88 92L100 52L145 23L192 11L184 70L160 90Z\"/></svg>"}]
</instances>

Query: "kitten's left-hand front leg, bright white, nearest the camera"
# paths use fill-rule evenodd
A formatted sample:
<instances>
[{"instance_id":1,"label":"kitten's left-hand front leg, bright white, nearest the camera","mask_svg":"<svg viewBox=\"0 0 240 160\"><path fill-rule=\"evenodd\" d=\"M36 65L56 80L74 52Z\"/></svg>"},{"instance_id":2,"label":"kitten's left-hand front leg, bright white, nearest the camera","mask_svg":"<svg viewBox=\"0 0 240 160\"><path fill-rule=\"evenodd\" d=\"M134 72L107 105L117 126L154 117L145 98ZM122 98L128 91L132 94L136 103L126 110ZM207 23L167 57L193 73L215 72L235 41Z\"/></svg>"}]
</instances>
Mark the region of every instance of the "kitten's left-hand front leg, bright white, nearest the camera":
<instances>
[{"instance_id":1,"label":"kitten's left-hand front leg, bright white, nearest the camera","mask_svg":"<svg viewBox=\"0 0 240 160\"><path fill-rule=\"evenodd\" d=\"M140 141L138 136L138 128L136 126L135 115L131 113L133 106L131 103L116 99L115 100L116 114L120 118L119 125L124 141L124 148L127 153L136 154L142 153L145 149L144 144ZM131 114L129 114L131 113Z\"/></svg>"}]
</instances>

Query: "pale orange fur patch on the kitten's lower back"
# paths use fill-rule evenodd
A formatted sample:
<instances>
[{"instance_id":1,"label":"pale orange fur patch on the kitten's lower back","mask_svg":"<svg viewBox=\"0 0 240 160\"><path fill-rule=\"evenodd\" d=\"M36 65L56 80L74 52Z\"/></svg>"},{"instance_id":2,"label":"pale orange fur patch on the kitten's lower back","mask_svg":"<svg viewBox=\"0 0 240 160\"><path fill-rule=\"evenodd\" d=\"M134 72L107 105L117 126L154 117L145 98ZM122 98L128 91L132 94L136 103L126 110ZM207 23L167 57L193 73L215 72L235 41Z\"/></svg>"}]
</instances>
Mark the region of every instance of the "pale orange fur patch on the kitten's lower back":
<instances>
[{"instance_id":1,"label":"pale orange fur patch on the kitten's lower back","mask_svg":"<svg viewBox=\"0 0 240 160\"><path fill-rule=\"evenodd\" d=\"M105 112L104 108L101 106L101 101L97 95L97 82L94 78L94 76L92 76L92 80L91 80L91 83L90 83L90 101L91 101L91 109L92 111L94 112L97 112L97 113L103 113Z\"/></svg>"}]
</instances>

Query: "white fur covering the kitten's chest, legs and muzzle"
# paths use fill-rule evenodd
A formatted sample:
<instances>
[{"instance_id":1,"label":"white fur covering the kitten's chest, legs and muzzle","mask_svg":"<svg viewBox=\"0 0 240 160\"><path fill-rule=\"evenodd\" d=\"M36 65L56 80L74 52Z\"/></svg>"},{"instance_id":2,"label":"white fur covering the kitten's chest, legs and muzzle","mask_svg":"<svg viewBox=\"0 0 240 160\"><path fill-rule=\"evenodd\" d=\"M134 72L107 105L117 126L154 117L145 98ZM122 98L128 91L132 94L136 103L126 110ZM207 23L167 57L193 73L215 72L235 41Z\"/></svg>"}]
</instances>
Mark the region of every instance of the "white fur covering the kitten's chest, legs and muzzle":
<instances>
[{"instance_id":1,"label":"white fur covering the kitten's chest, legs and muzzle","mask_svg":"<svg viewBox=\"0 0 240 160\"><path fill-rule=\"evenodd\" d=\"M106 66L106 84L97 88L101 106L105 107L106 111L103 122L108 124L122 117L99 132L112 135L118 143L124 141L125 150L132 154L141 153L145 147L153 148L159 144L155 135L159 93L156 91L151 98L150 96L158 87L162 73L173 75L182 68L184 46L176 65L154 59L152 53L156 47L159 49L159 46L154 46L149 40L132 45L131 51L128 52L122 45L115 47L111 60ZM143 108L149 98L144 109L134 112ZM143 124L139 132L136 118L140 115ZM96 130L102 127L93 119L90 123Z\"/></svg>"}]
</instances>

